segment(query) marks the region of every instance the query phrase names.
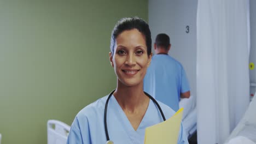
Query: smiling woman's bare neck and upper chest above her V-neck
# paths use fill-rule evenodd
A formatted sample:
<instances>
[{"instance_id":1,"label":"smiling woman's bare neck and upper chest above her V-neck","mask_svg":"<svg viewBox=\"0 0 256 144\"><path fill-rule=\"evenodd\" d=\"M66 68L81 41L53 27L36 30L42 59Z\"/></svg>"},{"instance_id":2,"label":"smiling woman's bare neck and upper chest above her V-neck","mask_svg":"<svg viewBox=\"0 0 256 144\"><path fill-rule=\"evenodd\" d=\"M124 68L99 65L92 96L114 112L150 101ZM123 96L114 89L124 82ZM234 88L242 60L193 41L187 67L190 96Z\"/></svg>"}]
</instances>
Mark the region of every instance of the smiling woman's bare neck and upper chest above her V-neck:
<instances>
[{"instance_id":1,"label":"smiling woman's bare neck and upper chest above her V-neck","mask_svg":"<svg viewBox=\"0 0 256 144\"><path fill-rule=\"evenodd\" d=\"M143 91L143 83L132 87L120 84L113 95L122 109L131 113L136 113L149 104L149 98Z\"/></svg>"}]
</instances>

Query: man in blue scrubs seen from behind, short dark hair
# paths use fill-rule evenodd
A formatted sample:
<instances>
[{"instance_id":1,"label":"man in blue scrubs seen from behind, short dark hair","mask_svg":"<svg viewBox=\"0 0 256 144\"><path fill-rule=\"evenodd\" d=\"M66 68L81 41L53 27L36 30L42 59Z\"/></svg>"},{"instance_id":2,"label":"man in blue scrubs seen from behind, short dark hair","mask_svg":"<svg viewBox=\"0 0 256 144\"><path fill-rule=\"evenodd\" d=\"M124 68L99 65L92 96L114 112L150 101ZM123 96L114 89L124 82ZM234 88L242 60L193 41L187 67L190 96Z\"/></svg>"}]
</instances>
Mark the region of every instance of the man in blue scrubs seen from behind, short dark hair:
<instances>
[{"instance_id":1,"label":"man in blue scrubs seen from behind, short dark hair","mask_svg":"<svg viewBox=\"0 0 256 144\"><path fill-rule=\"evenodd\" d=\"M158 34L154 44L157 55L144 77L144 91L177 111L180 97L189 98L190 89L182 64L168 55L170 47L168 35Z\"/></svg>"}]
</instances>

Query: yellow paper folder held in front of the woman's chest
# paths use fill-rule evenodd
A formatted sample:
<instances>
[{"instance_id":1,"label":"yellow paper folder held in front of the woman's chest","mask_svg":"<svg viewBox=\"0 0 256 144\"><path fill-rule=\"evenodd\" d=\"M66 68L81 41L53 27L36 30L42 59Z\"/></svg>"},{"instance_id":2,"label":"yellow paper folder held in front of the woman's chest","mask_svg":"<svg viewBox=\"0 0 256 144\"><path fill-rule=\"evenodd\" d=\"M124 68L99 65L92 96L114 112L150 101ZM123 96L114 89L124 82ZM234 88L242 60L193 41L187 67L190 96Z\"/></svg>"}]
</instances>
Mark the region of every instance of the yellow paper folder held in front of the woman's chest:
<instances>
[{"instance_id":1,"label":"yellow paper folder held in front of the woman's chest","mask_svg":"<svg viewBox=\"0 0 256 144\"><path fill-rule=\"evenodd\" d=\"M144 144L176 144L181 128L183 108L164 122L146 128Z\"/></svg>"}]
</instances>

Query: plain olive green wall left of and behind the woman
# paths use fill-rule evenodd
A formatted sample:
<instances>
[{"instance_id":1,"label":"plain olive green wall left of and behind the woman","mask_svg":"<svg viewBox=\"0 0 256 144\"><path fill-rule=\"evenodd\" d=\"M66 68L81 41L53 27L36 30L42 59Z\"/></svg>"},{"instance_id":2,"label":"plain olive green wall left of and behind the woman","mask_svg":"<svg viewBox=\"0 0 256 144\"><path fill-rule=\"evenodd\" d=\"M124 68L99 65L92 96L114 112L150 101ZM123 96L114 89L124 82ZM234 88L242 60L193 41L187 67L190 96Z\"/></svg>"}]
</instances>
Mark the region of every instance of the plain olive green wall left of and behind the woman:
<instances>
[{"instance_id":1,"label":"plain olive green wall left of and behind the woman","mask_svg":"<svg viewBox=\"0 0 256 144\"><path fill-rule=\"evenodd\" d=\"M46 143L46 122L71 125L116 85L108 52L121 17L148 19L148 1L0 0L2 143Z\"/></svg>"}]
</instances>

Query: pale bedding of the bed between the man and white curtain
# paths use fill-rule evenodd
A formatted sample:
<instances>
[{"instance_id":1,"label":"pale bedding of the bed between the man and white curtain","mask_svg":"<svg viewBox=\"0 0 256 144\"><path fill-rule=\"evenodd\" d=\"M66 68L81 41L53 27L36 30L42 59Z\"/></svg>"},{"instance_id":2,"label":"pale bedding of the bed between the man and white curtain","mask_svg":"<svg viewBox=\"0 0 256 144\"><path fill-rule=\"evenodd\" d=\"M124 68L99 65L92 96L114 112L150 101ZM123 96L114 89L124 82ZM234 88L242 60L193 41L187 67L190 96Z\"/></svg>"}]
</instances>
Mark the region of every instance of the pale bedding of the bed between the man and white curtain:
<instances>
[{"instance_id":1,"label":"pale bedding of the bed between the man and white curtain","mask_svg":"<svg viewBox=\"0 0 256 144\"><path fill-rule=\"evenodd\" d=\"M183 107L183 127L188 139L196 131L196 98L191 95L190 98L184 98L179 101L179 107Z\"/></svg>"}]
</instances>

